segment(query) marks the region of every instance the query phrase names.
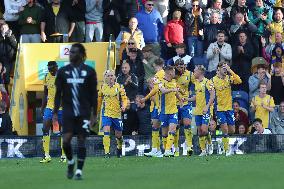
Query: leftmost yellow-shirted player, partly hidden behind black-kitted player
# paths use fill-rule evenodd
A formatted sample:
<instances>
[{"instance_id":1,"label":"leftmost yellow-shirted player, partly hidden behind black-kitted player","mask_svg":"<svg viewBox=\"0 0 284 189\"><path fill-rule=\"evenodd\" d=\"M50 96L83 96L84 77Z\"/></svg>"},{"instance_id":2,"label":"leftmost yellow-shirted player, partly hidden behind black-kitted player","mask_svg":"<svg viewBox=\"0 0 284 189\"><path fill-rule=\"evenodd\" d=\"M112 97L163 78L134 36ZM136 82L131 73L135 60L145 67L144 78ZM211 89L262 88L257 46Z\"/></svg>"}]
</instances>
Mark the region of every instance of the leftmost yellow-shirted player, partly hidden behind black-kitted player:
<instances>
[{"instance_id":1,"label":"leftmost yellow-shirted player, partly hidden behind black-kitted player","mask_svg":"<svg viewBox=\"0 0 284 189\"><path fill-rule=\"evenodd\" d=\"M54 98L55 98L55 77L58 70L57 63L55 61L48 62L48 73L44 79L44 97L42 100L42 107L41 111L43 112L43 138L42 138L42 145L44 151L44 158L40 161L40 163L48 163L51 161L51 157L49 155L49 143L50 143L50 128L52 124L53 117L53 107L54 107ZM62 108L58 112L58 122L59 125L62 125ZM60 161L66 162L66 156L64 154L62 148L62 139L61 139L61 149L62 154Z\"/></svg>"}]
</instances>

